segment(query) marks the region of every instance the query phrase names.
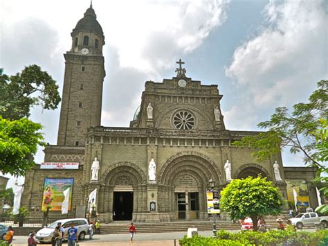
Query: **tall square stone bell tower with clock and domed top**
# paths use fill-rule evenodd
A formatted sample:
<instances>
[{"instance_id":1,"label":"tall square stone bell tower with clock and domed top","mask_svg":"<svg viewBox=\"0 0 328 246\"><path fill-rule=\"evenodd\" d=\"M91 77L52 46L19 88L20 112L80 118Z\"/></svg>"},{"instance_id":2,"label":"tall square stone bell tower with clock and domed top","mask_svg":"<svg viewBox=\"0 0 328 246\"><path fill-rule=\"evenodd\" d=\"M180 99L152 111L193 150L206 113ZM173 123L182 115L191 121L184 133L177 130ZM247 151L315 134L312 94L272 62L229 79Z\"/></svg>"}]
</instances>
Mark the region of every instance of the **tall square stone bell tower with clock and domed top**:
<instances>
[{"instance_id":1,"label":"tall square stone bell tower with clock and domed top","mask_svg":"<svg viewBox=\"0 0 328 246\"><path fill-rule=\"evenodd\" d=\"M84 146L87 128L100 125L104 82L104 33L90 8L71 33L71 50L64 54L65 75L58 146Z\"/></svg>"}]
</instances>

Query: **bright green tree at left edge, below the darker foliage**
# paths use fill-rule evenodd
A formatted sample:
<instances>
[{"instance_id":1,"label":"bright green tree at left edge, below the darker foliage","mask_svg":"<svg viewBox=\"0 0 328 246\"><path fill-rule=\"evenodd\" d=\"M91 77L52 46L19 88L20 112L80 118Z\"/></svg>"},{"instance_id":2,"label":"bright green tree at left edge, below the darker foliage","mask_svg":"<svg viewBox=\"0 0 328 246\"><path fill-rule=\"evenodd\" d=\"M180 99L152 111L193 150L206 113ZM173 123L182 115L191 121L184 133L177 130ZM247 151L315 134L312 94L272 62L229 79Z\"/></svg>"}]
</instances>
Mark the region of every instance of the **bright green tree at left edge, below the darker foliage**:
<instances>
[{"instance_id":1,"label":"bright green tree at left edge, below the darker foliage","mask_svg":"<svg viewBox=\"0 0 328 246\"><path fill-rule=\"evenodd\" d=\"M37 146L44 146L42 125L27 118L9 121L0 116L0 171L24 175L34 166Z\"/></svg>"}]
</instances>

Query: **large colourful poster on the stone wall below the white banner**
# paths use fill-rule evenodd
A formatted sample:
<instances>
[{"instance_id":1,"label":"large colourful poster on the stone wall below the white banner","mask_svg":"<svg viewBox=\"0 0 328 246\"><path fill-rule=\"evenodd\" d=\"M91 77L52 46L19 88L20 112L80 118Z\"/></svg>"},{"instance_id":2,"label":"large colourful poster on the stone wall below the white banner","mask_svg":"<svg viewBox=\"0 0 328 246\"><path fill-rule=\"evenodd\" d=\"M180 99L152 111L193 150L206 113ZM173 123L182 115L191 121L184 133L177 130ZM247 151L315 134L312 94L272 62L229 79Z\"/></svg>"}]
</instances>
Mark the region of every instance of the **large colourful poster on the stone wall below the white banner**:
<instances>
[{"instance_id":1,"label":"large colourful poster on the stone wall below the white banner","mask_svg":"<svg viewBox=\"0 0 328 246\"><path fill-rule=\"evenodd\" d=\"M69 189L69 211L72 205L72 191L74 179L44 179L44 194L42 196L42 211L62 211L62 203L64 201L64 193L67 188Z\"/></svg>"}]
</instances>

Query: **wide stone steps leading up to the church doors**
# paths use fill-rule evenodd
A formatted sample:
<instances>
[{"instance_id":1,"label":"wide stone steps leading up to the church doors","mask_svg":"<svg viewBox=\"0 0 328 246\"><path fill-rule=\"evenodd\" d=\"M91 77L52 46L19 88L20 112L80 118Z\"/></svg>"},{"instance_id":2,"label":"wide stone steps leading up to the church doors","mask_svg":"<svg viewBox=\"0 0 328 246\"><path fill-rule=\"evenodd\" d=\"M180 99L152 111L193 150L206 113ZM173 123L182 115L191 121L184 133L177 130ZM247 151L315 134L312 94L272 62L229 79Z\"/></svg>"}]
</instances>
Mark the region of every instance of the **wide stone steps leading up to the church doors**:
<instances>
[{"instance_id":1,"label":"wide stone steps leading up to the church doors","mask_svg":"<svg viewBox=\"0 0 328 246\"><path fill-rule=\"evenodd\" d=\"M239 230L239 223L233 224L227 221L217 221L217 231L224 230ZM129 232L129 221L115 222L110 224L100 224L101 234L127 234ZM188 228L196 227L198 231L211 231L213 222L204 221L174 221L174 222L157 222L157 223L136 223L137 233L159 233L159 232L176 232L185 231ZM277 228L277 222L270 220L266 221L266 227L269 229Z\"/></svg>"}]
</instances>

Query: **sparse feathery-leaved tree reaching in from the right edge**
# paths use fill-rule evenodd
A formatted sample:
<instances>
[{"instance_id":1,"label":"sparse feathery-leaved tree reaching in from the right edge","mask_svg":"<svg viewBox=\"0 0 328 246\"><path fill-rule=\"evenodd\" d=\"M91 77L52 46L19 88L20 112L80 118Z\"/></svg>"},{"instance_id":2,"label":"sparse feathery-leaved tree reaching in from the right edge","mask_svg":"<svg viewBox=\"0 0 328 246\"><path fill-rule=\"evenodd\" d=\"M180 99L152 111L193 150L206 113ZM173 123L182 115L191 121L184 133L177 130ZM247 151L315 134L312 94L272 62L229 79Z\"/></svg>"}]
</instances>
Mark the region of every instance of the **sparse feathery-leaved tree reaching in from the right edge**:
<instances>
[{"instance_id":1,"label":"sparse feathery-leaved tree reaching in from the right edge","mask_svg":"<svg viewBox=\"0 0 328 246\"><path fill-rule=\"evenodd\" d=\"M323 168L316 150L316 130L320 128L320 118L328 116L328 80L318 82L318 89L313 91L308 103L298 103L289 113L286 107L277 107L270 121L264 121L257 126L268 129L255 136L247 136L241 141L235 141L234 146L257 148L252 155L257 161L264 161L289 148L295 154L302 152L304 163Z\"/></svg>"}]
</instances>

